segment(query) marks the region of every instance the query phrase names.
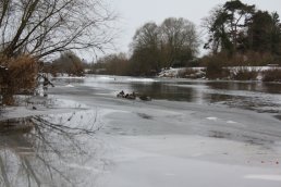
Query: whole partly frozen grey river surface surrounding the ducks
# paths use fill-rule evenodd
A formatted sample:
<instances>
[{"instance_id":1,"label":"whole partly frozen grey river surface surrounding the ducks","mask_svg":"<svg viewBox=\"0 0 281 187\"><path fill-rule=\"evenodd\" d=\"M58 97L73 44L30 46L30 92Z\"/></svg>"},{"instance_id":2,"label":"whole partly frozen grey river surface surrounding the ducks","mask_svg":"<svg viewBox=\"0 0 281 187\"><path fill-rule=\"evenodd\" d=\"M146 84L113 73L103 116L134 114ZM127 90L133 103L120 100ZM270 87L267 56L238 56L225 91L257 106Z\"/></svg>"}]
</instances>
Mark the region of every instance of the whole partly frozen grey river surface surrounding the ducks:
<instances>
[{"instance_id":1,"label":"whole partly frozen grey river surface surrounding the ducks","mask_svg":"<svg viewBox=\"0 0 281 187\"><path fill-rule=\"evenodd\" d=\"M61 104L42 122L95 133L1 136L0 186L281 185L280 84L114 76L54 83L50 97ZM121 90L152 101L117 98Z\"/></svg>"}]
</instances>

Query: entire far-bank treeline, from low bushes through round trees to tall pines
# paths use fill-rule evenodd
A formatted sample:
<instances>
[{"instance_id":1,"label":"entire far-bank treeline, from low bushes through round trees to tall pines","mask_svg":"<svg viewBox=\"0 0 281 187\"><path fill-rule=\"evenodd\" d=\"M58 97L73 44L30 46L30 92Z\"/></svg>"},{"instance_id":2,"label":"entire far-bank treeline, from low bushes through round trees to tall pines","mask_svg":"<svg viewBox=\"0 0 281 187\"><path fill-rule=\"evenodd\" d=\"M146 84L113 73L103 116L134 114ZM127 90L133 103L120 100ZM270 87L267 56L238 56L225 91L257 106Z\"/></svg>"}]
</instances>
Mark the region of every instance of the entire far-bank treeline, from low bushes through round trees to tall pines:
<instances>
[{"instance_id":1,"label":"entire far-bank treeline, from low bushes through round trees to tall pines","mask_svg":"<svg viewBox=\"0 0 281 187\"><path fill-rule=\"evenodd\" d=\"M203 18L207 41L195 24L170 17L162 24L149 22L138 28L130 54L109 54L90 68L94 73L149 76L170 66L281 65L281 23L269 13L240 0L215 7ZM209 50L197 58L199 47Z\"/></svg>"}]
</instances>

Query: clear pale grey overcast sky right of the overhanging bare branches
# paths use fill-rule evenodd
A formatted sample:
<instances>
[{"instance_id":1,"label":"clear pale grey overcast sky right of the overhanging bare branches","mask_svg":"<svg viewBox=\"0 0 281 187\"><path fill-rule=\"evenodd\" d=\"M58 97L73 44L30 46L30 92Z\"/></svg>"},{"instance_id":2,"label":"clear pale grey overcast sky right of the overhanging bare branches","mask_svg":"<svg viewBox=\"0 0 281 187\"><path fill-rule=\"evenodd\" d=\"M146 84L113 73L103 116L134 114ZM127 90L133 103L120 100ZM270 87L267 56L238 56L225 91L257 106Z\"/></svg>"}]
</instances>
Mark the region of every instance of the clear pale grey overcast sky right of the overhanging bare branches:
<instances>
[{"instance_id":1,"label":"clear pale grey overcast sky right of the overhanging bare branches","mask_svg":"<svg viewBox=\"0 0 281 187\"><path fill-rule=\"evenodd\" d=\"M118 52L127 52L135 30L144 23L161 23L167 17L184 17L198 27L201 18L217 4L227 0L110 0L111 7L119 14L118 28L121 29L117 40ZM256 4L257 9L277 11L281 15L281 0L242 0Z\"/></svg>"}]
</instances>

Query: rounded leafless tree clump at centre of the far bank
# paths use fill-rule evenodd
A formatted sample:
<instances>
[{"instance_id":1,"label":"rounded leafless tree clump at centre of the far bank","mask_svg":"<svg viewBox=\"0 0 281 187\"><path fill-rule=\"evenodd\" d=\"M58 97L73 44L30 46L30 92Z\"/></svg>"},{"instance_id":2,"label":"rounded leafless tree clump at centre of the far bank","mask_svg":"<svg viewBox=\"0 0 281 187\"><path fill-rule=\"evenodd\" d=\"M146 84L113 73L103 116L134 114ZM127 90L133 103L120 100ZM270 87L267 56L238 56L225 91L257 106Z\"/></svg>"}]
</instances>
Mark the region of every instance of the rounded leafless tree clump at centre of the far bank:
<instances>
[{"instance_id":1,"label":"rounded leafless tree clump at centre of the far bank","mask_svg":"<svg viewBox=\"0 0 281 187\"><path fill-rule=\"evenodd\" d=\"M161 25L146 23L132 42L135 75L154 75L161 67L185 66L198 51L195 25L185 18L170 17Z\"/></svg>"}]
</instances>

